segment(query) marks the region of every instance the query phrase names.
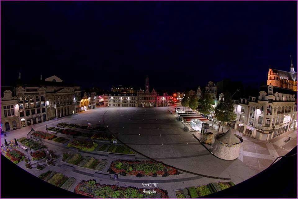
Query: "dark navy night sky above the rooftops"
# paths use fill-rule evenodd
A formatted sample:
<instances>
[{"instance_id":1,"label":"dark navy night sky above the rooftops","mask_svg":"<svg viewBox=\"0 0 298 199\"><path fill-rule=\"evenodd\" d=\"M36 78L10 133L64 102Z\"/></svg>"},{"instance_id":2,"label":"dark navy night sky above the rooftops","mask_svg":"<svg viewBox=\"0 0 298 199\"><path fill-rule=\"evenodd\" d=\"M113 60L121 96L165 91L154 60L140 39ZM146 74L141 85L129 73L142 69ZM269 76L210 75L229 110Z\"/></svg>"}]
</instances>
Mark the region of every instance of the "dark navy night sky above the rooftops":
<instances>
[{"instance_id":1,"label":"dark navy night sky above the rooftops","mask_svg":"<svg viewBox=\"0 0 298 199\"><path fill-rule=\"evenodd\" d=\"M56 75L82 87L258 87L297 68L297 1L1 1L1 85Z\"/></svg>"}]
</instances>

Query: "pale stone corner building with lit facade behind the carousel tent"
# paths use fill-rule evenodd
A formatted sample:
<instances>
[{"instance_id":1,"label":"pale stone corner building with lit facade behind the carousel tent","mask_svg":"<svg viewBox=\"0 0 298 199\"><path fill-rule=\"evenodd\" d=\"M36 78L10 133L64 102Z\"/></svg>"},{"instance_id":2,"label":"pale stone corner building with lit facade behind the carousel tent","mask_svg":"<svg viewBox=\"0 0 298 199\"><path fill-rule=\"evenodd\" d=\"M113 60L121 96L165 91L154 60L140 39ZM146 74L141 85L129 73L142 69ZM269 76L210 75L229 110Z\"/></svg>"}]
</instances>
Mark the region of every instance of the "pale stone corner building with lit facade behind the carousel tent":
<instances>
[{"instance_id":1,"label":"pale stone corner building with lit facade behind the carousel tent","mask_svg":"<svg viewBox=\"0 0 298 199\"><path fill-rule=\"evenodd\" d=\"M257 97L240 98L234 104L237 113L235 129L268 141L297 127L295 92L269 85L261 86L259 93Z\"/></svg>"}]
</instances>

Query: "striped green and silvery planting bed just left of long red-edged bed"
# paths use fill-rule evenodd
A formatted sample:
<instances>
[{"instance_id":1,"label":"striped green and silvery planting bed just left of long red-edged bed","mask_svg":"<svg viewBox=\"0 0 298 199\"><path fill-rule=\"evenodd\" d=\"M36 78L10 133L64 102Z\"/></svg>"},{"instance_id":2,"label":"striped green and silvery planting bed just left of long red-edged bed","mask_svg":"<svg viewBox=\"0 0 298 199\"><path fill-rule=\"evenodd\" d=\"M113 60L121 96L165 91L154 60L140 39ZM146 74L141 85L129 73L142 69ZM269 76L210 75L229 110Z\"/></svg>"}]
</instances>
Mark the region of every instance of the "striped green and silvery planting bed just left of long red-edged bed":
<instances>
[{"instance_id":1,"label":"striped green and silvery planting bed just left of long red-edged bed","mask_svg":"<svg viewBox=\"0 0 298 199\"><path fill-rule=\"evenodd\" d=\"M69 154L69 153L63 153L62 155L62 161L74 164L80 167L84 167L87 169L94 169L98 171L102 171L102 169L105 167L107 160L97 160L94 157L82 157L80 154Z\"/></svg>"}]
</instances>

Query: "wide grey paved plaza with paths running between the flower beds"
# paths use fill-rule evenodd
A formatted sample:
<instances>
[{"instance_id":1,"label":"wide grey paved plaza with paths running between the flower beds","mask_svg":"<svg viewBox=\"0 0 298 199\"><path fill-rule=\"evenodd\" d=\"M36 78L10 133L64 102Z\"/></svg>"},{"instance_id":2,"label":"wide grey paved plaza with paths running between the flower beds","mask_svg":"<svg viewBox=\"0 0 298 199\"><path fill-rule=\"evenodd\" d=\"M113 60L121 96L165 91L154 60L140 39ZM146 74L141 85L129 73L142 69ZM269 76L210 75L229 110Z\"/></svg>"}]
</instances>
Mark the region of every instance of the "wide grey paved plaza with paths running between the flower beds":
<instances>
[{"instance_id":1,"label":"wide grey paved plaza with paths running between the flower beds","mask_svg":"<svg viewBox=\"0 0 298 199\"><path fill-rule=\"evenodd\" d=\"M170 113L170 111L174 113L175 107L178 106L171 105L169 107L155 108L101 106L97 109L91 109L83 113L73 114L58 118L57 120L53 119L7 132L6 139L8 141L14 140L14 138L18 139L20 137L26 137L27 133L31 130L31 127L33 127L34 130L45 131L46 125L47 127L56 127L56 124L60 122L69 122L83 126L87 125L87 121L89 121L93 127L105 124L120 141L130 146L133 150L188 172L182 172L180 175L169 177L136 178L131 175L119 175L118 181L100 179L93 177L95 171L91 169L74 166L75 171L71 171L61 168L62 153L77 153L78 150L67 147L68 142L62 145L47 140L43 140L44 144L52 149L58 156L58 158L54 160L55 165L44 165L41 171L36 169L26 169L24 161L20 162L18 165L35 176L38 176L47 170L53 170L61 172L68 177L76 178L76 182L69 188L69 191L73 191L74 187L81 180L89 179L96 179L98 183L140 188L142 182L145 183L151 181L158 182L158 187L167 190L170 198L176 197L174 190L185 187L200 186L219 181L233 181L236 184L240 183L266 169L275 158L287 154L289 150L297 145L296 130L284 133L271 141L257 141L240 133L240 136L244 139L244 144L239 158L230 161L221 160L210 153L212 146L205 145L206 149L191 132L183 131L183 124ZM76 130L90 132L89 130L84 129ZM224 127L224 131L227 131L227 127ZM236 132L234 129L233 132L238 134L238 131ZM58 136L66 137L60 133ZM291 141L285 143L284 140L288 137L291 137ZM71 141L73 138L68 139ZM99 144L100 141L97 141L97 143ZM4 144L3 134L1 135L1 144ZM19 150L25 153L24 150ZM108 163L102 171L104 174L108 174L107 169L109 168L111 161L119 159L119 157L108 156L107 153L96 151L96 149L91 152L79 150L79 153L83 156L94 156L97 159L107 159ZM147 160L147 158L138 154L135 156L135 160ZM231 180L206 178L191 173L219 178L230 178Z\"/></svg>"}]
</instances>

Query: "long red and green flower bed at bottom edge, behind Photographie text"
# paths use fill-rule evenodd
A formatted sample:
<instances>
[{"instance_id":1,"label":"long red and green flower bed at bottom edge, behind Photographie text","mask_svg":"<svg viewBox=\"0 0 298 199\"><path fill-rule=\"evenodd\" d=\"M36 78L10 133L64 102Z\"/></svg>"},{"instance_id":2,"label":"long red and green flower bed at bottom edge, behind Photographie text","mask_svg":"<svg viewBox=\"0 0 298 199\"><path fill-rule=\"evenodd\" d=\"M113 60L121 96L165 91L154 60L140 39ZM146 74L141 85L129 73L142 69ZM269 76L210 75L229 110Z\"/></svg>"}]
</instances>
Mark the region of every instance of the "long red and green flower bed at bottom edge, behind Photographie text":
<instances>
[{"instance_id":1,"label":"long red and green flower bed at bottom edge, behind Photographie text","mask_svg":"<svg viewBox=\"0 0 298 199\"><path fill-rule=\"evenodd\" d=\"M145 189L153 190L153 189ZM117 185L106 185L96 183L95 180L81 181L74 192L95 198L168 198L168 192L155 188L156 193L146 194L143 189L136 187L119 187Z\"/></svg>"}]
</instances>

